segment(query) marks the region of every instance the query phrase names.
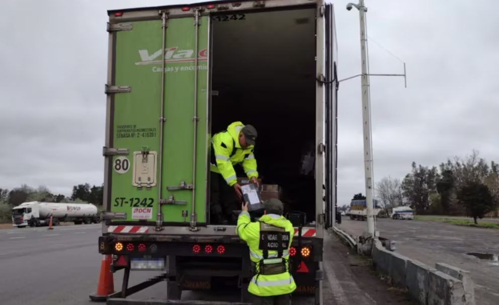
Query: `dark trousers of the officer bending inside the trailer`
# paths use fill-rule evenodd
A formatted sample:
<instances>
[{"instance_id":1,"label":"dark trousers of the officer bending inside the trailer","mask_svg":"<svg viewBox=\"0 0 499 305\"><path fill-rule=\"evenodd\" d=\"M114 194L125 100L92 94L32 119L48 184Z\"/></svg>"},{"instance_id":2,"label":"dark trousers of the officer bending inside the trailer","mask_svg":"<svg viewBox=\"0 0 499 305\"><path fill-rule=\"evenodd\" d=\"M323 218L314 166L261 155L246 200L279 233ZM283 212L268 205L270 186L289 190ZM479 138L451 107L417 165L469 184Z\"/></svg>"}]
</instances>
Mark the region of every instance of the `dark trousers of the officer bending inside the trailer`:
<instances>
[{"instance_id":1,"label":"dark trousers of the officer bending inside the trailer","mask_svg":"<svg viewBox=\"0 0 499 305\"><path fill-rule=\"evenodd\" d=\"M234 210L240 209L236 204L236 194L228 186L221 174L210 172L210 217L211 223L220 224L222 220L233 222Z\"/></svg>"}]
</instances>

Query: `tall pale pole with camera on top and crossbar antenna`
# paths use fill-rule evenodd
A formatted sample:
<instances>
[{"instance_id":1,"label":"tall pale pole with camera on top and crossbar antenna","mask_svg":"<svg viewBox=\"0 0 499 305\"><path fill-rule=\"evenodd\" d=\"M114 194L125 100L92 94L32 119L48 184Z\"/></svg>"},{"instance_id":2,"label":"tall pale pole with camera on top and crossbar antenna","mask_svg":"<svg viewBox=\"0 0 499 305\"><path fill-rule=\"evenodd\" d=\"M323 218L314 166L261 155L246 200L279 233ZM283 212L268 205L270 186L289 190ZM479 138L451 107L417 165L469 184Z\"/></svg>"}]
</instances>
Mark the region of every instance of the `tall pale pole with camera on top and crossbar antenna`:
<instances>
[{"instance_id":1,"label":"tall pale pole with camera on top and crossbar antenna","mask_svg":"<svg viewBox=\"0 0 499 305\"><path fill-rule=\"evenodd\" d=\"M373 238L375 237L375 217L374 217L374 176L373 176L373 158L372 158L372 132L371 132L371 94L370 94L370 76L403 76L405 88L407 88L407 81L405 77L405 63L403 74L370 74L368 69L369 52L367 48L367 26L366 26L366 12L367 7L364 5L364 0L359 0L359 4L347 4L347 10L356 8L359 11L360 20L360 44L361 44L361 60L362 72L361 74L354 75L353 77L340 80L339 82L361 77L362 88L362 127L364 135L364 174L365 174L365 187L366 187L366 211L367 211L367 232Z\"/></svg>"}]
</instances>

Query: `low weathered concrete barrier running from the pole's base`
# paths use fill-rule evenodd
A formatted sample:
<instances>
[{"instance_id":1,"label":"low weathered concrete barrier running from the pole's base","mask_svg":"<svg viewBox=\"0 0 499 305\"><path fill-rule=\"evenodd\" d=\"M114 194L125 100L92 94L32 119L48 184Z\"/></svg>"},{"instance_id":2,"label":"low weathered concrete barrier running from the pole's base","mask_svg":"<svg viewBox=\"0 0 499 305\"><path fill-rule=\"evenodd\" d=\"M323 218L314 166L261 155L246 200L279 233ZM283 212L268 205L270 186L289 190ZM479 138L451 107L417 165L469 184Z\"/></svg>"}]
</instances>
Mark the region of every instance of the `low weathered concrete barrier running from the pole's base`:
<instances>
[{"instance_id":1,"label":"low weathered concrete barrier running from the pole's base","mask_svg":"<svg viewBox=\"0 0 499 305\"><path fill-rule=\"evenodd\" d=\"M358 248L366 246L360 241L362 239L357 243ZM468 271L444 263L437 263L436 268L432 268L387 250L377 238L370 242L376 270L387 275L390 284L407 288L420 304L475 305L474 284Z\"/></svg>"}]
</instances>

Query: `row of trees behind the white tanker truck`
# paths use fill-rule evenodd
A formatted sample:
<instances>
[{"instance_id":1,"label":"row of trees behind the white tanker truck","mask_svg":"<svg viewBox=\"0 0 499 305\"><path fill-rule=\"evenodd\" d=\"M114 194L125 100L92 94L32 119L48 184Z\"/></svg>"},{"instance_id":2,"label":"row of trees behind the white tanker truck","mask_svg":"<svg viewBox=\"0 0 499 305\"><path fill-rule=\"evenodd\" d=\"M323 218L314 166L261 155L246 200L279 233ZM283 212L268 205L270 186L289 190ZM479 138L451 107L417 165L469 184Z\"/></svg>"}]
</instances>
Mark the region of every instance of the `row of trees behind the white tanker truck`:
<instances>
[{"instance_id":1,"label":"row of trees behind the white tanker truck","mask_svg":"<svg viewBox=\"0 0 499 305\"><path fill-rule=\"evenodd\" d=\"M9 190L0 188L0 221L11 220L11 209L23 202L81 202L102 205L104 200L104 184L90 185L89 183L73 186L71 196L54 194L47 187L39 186L33 188L26 184Z\"/></svg>"}]
</instances>

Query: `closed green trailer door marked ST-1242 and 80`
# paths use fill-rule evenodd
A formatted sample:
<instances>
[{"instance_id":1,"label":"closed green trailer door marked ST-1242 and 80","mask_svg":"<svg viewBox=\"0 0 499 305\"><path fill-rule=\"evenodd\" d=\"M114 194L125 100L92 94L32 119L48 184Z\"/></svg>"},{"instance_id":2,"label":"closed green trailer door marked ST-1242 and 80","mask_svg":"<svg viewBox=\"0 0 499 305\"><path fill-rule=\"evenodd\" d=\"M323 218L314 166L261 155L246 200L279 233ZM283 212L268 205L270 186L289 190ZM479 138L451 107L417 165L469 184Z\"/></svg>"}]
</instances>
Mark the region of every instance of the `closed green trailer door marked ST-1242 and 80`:
<instances>
[{"instance_id":1,"label":"closed green trailer door marked ST-1242 and 80","mask_svg":"<svg viewBox=\"0 0 499 305\"><path fill-rule=\"evenodd\" d=\"M126 221L187 224L194 192L203 223L209 19L158 18L113 25L121 28L112 31L109 145L128 153L109 157L108 211L125 212Z\"/></svg>"}]
</instances>

